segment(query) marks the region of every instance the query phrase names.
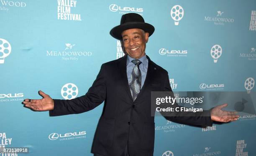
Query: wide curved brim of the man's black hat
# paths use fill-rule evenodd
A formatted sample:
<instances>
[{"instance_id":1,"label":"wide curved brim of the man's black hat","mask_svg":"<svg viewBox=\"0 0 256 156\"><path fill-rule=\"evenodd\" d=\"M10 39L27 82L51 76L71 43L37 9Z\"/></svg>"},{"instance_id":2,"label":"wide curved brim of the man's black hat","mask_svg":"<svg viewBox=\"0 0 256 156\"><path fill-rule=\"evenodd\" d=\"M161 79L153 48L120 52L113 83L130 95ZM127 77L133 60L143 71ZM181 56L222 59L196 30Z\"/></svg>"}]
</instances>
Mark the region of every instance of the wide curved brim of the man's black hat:
<instances>
[{"instance_id":1,"label":"wide curved brim of the man's black hat","mask_svg":"<svg viewBox=\"0 0 256 156\"><path fill-rule=\"evenodd\" d=\"M114 27L113 29L111 29L110 30L110 35L113 36L113 38L116 38L118 40L122 40L121 33L124 30L133 29L133 28L142 29L146 33L149 33L149 36L151 36L155 31L154 26L151 25L151 24L143 23L143 22L128 22L128 23L118 25L118 26Z\"/></svg>"}]
</instances>

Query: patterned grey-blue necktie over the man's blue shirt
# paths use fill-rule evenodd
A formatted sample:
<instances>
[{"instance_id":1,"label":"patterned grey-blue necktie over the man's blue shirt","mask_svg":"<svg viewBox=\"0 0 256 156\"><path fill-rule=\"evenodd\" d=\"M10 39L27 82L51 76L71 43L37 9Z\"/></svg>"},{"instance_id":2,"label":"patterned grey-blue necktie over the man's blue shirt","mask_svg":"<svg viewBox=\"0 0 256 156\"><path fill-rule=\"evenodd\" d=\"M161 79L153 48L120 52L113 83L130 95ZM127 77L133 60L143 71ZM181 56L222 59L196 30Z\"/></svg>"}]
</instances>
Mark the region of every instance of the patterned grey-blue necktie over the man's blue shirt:
<instances>
[{"instance_id":1,"label":"patterned grey-blue necktie over the man's blue shirt","mask_svg":"<svg viewBox=\"0 0 256 156\"><path fill-rule=\"evenodd\" d=\"M135 64L132 73L131 73L131 82L129 82L131 94L133 97L133 101L138 96L138 93L141 91L141 70L139 68L139 65L141 64L140 60L132 60L132 63Z\"/></svg>"}]
</instances>

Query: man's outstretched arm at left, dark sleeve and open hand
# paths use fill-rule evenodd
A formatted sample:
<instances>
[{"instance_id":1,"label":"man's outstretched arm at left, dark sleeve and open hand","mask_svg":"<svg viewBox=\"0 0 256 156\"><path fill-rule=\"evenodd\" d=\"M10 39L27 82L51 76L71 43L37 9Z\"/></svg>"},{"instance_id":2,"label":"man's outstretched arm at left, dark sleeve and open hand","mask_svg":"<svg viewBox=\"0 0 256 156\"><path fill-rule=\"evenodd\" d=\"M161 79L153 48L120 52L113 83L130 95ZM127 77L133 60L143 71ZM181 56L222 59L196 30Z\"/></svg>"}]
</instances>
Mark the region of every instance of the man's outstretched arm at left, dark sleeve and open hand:
<instances>
[{"instance_id":1,"label":"man's outstretched arm at left, dark sleeve and open hand","mask_svg":"<svg viewBox=\"0 0 256 156\"><path fill-rule=\"evenodd\" d=\"M23 104L35 111L49 111L50 116L61 116L67 114L77 114L90 111L99 106L106 98L105 70L104 64L96 80L84 96L72 100L52 99L42 91L39 94L43 97L38 100L25 99Z\"/></svg>"}]
</instances>

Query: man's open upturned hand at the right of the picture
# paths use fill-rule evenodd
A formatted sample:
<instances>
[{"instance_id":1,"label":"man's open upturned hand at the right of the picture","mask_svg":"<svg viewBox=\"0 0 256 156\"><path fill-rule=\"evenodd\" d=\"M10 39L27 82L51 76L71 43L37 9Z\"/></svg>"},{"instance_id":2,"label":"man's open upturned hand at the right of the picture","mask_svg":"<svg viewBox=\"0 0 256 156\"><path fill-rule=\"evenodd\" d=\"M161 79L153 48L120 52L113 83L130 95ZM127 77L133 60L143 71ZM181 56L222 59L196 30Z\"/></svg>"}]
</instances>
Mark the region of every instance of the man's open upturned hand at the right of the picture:
<instances>
[{"instance_id":1,"label":"man's open upturned hand at the right of the picture","mask_svg":"<svg viewBox=\"0 0 256 156\"><path fill-rule=\"evenodd\" d=\"M211 119L212 121L218 122L230 122L236 121L239 118L236 111L223 111L221 108L227 107L228 103L224 103L222 105L216 106L211 110Z\"/></svg>"}]
</instances>

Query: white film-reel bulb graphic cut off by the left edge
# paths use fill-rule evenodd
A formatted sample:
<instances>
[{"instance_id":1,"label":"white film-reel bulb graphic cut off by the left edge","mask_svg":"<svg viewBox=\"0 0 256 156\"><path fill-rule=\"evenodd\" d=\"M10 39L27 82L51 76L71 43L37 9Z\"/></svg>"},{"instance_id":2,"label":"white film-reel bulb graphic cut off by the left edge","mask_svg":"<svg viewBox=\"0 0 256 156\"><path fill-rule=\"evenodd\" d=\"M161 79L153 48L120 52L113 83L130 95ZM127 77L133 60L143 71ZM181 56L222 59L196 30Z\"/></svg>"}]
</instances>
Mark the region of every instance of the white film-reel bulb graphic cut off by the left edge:
<instances>
[{"instance_id":1,"label":"white film-reel bulb graphic cut off by the left edge","mask_svg":"<svg viewBox=\"0 0 256 156\"><path fill-rule=\"evenodd\" d=\"M5 39L0 38L0 63L5 63L5 58L10 55L11 50L12 47L10 43Z\"/></svg>"}]
</instances>

